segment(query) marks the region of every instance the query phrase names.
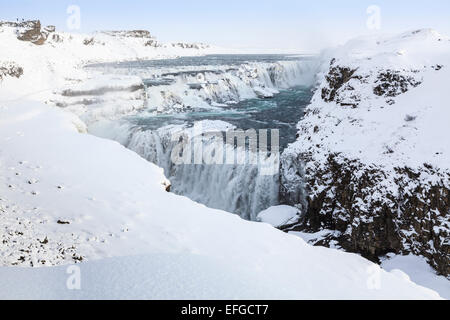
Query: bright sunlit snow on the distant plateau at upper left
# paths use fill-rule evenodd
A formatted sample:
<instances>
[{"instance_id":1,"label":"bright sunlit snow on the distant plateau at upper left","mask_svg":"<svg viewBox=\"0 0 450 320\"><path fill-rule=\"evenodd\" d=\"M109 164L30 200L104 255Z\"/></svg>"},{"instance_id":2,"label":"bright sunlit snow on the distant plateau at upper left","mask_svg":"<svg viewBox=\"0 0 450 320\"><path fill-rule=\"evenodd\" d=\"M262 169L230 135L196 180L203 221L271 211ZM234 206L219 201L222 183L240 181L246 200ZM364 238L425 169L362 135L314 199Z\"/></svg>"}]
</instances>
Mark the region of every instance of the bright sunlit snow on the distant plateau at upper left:
<instances>
[{"instance_id":1,"label":"bright sunlit snow on the distant plateau at upper left","mask_svg":"<svg viewBox=\"0 0 450 320\"><path fill-rule=\"evenodd\" d=\"M92 45L85 45L86 39L95 41ZM151 39L101 32L93 35L55 32L38 46L18 41L16 28L7 26L0 26L0 40L1 60L14 61L24 70L20 79L9 79L0 87L0 93L7 93L8 100L30 96L33 99L49 99L53 91L64 89L68 83L76 84L89 78L89 73L80 68L88 63L198 56L225 51L211 46L146 46Z\"/></svg>"}]
</instances>

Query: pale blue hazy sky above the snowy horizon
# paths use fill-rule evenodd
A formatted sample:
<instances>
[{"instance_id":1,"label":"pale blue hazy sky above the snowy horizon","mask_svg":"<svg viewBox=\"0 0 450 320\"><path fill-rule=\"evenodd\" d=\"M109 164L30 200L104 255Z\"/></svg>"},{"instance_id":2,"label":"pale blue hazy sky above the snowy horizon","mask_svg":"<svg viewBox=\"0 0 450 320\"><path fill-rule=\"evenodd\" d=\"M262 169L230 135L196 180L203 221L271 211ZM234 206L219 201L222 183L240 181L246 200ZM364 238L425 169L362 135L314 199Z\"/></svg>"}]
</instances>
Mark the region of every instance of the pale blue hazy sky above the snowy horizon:
<instances>
[{"instance_id":1,"label":"pale blue hazy sky above the snowy horizon","mask_svg":"<svg viewBox=\"0 0 450 320\"><path fill-rule=\"evenodd\" d=\"M147 29L161 41L228 48L318 51L370 32L434 28L450 35L448 0L0 0L0 20L40 19L67 30L78 5L81 29ZM367 8L381 10L381 29L366 26Z\"/></svg>"}]
</instances>

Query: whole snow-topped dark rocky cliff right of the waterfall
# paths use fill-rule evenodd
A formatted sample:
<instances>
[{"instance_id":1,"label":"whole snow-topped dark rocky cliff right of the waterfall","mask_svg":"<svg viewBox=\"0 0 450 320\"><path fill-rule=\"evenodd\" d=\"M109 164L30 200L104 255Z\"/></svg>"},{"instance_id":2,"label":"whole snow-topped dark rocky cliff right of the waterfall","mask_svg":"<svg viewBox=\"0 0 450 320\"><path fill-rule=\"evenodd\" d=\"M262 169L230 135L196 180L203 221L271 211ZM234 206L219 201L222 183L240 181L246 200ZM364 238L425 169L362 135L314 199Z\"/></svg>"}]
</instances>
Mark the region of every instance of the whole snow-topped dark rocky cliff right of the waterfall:
<instances>
[{"instance_id":1,"label":"whole snow-topped dark rocky cliff right of the waterfall","mask_svg":"<svg viewBox=\"0 0 450 320\"><path fill-rule=\"evenodd\" d=\"M282 160L281 200L304 209L296 229L334 231L315 244L422 255L450 275L449 52L420 30L327 53Z\"/></svg>"}]
</instances>

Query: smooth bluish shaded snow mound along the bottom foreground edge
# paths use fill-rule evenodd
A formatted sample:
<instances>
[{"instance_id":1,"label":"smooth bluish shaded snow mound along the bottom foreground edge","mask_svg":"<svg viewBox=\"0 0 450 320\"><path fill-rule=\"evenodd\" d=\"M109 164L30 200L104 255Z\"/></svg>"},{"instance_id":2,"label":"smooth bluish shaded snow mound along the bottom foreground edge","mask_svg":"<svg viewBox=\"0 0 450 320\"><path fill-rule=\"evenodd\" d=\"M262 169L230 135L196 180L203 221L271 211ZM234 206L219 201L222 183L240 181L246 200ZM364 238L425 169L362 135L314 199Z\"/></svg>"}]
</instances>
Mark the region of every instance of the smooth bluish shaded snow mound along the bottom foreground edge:
<instances>
[{"instance_id":1,"label":"smooth bluish shaded snow mound along the bottom foreground edge","mask_svg":"<svg viewBox=\"0 0 450 320\"><path fill-rule=\"evenodd\" d=\"M85 263L79 268L79 290L67 286L74 274L72 267L0 269L3 275L0 287L9 288L7 292L0 291L0 299L277 300L327 297L326 292L318 294L317 289L308 292L306 289L311 288L306 286L280 286L278 278L262 280L259 273L247 272L212 257L188 253L110 258ZM395 274L389 280L404 278L398 272Z\"/></svg>"}]
</instances>

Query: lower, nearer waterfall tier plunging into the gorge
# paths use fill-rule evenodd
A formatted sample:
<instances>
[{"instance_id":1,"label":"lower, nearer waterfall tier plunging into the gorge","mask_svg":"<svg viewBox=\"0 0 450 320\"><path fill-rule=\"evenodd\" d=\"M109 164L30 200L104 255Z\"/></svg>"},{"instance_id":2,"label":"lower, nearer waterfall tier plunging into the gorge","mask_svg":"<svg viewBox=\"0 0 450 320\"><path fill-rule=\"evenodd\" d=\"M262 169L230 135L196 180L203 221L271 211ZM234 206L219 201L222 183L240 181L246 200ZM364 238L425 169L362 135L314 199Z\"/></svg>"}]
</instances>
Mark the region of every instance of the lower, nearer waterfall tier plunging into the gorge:
<instances>
[{"instance_id":1,"label":"lower, nearer waterfall tier plunging into the gorge","mask_svg":"<svg viewBox=\"0 0 450 320\"><path fill-rule=\"evenodd\" d=\"M214 122L211 123L214 125ZM194 157L200 154L202 162L175 164L172 160L179 140L174 138L180 133L192 136L192 128L184 126L164 127L158 130L136 130L130 135L127 147L142 157L164 168L166 176L172 183L172 191L187 196L209 207L239 214L249 220L278 201L279 178L278 159L267 158L243 148L224 144L224 141L211 141L203 137L201 143L193 144ZM236 163L225 161L211 164L204 160L208 155L223 150L222 155L232 149L236 154ZM198 157L197 157L198 158ZM222 160L225 157L222 156ZM272 172L264 171L275 168Z\"/></svg>"}]
</instances>

